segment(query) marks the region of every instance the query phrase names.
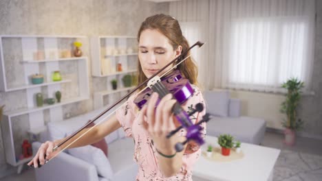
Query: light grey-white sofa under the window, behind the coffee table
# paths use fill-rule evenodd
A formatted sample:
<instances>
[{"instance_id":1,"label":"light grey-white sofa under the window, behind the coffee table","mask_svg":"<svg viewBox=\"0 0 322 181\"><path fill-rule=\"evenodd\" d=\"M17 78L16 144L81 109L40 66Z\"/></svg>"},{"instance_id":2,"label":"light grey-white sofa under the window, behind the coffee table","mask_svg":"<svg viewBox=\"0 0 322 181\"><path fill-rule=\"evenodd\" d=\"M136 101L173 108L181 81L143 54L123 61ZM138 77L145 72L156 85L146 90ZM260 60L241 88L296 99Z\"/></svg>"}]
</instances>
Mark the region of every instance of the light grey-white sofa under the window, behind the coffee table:
<instances>
[{"instance_id":1,"label":"light grey-white sofa under the window, behind the coffee table","mask_svg":"<svg viewBox=\"0 0 322 181\"><path fill-rule=\"evenodd\" d=\"M266 121L255 117L240 116L240 100L231 99L228 90L204 91L206 110L214 115L207 122L207 134L230 134L238 141L259 145L266 131Z\"/></svg>"}]
</instances>

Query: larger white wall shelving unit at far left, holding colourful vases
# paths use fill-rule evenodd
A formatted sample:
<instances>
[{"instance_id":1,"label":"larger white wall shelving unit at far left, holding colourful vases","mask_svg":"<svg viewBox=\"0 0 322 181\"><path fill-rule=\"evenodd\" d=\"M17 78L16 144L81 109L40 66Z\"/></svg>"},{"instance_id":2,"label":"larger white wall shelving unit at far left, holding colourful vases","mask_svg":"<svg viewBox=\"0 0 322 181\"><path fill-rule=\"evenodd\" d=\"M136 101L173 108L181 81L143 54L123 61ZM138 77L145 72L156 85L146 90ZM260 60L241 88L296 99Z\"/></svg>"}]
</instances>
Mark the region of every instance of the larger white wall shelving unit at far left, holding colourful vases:
<instances>
[{"instance_id":1,"label":"larger white wall shelving unit at far left, holding colourful vases","mask_svg":"<svg viewBox=\"0 0 322 181\"><path fill-rule=\"evenodd\" d=\"M86 36L23 36L8 35L0 36L0 91L8 94L14 91L23 91L26 106L3 112L3 145L6 151L6 160L10 165L18 166L28 162L31 158L19 160L15 149L12 120L23 114L28 115L29 128L27 132L39 134L45 128L45 113L49 112L49 121L63 120L63 106L78 101L89 99L88 60L87 57L61 57L61 51L72 51L74 41L87 42ZM35 58L35 53L42 53L42 58ZM72 53L71 53L72 54ZM66 63L74 69L66 67ZM15 71L10 71L14 67ZM54 71L65 70L61 73L62 80L52 81ZM70 69L70 70L69 70ZM20 70L21 72L17 73ZM71 72L68 72L68 71ZM44 75L43 84L32 84L31 76L35 73ZM66 73L66 75L64 75ZM14 81L12 81L14 80ZM54 97L57 90L65 86L73 86L76 93L71 97L62 96L60 103L52 105L44 104L36 106L36 93L43 93L47 97ZM69 84L69 85L68 85ZM66 89L66 90L65 90ZM64 91L68 91L65 88ZM63 90L62 90L62 95ZM65 94L68 95L68 94Z\"/></svg>"}]
</instances>

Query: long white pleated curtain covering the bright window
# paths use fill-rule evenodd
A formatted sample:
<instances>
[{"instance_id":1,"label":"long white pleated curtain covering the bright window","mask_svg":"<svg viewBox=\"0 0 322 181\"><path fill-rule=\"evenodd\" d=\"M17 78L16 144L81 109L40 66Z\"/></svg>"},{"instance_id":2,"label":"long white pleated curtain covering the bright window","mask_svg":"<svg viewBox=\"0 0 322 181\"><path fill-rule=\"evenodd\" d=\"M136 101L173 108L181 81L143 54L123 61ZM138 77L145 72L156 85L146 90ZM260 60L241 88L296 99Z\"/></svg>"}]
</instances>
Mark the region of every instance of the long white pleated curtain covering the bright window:
<instances>
[{"instance_id":1,"label":"long white pleated curtain covering the bright window","mask_svg":"<svg viewBox=\"0 0 322 181\"><path fill-rule=\"evenodd\" d=\"M308 90L314 58L314 3L186 0L172 2L170 14L184 28L194 22L198 27L191 31L197 29L208 42L205 51L200 51L203 57L196 57L206 89L279 92L281 83L298 77ZM191 37L189 29L184 33L187 39Z\"/></svg>"}]
</instances>

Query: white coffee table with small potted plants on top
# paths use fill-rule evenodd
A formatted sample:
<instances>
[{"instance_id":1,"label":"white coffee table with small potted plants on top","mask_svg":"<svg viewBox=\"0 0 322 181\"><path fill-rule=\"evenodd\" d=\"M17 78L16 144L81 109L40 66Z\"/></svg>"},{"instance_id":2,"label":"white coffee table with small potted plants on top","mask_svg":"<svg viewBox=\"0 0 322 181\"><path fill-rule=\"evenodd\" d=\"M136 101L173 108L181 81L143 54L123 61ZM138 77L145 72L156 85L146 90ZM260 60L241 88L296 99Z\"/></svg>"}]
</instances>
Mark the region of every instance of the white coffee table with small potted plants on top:
<instances>
[{"instance_id":1,"label":"white coffee table with small potted plants on top","mask_svg":"<svg viewBox=\"0 0 322 181\"><path fill-rule=\"evenodd\" d=\"M206 152L208 145L219 147L217 138L206 136L206 143L202 145L202 152ZM219 162L200 156L193 167L194 181L198 180L247 180L272 181L273 167L279 156L279 149L241 143L244 157L229 162Z\"/></svg>"}]
</instances>

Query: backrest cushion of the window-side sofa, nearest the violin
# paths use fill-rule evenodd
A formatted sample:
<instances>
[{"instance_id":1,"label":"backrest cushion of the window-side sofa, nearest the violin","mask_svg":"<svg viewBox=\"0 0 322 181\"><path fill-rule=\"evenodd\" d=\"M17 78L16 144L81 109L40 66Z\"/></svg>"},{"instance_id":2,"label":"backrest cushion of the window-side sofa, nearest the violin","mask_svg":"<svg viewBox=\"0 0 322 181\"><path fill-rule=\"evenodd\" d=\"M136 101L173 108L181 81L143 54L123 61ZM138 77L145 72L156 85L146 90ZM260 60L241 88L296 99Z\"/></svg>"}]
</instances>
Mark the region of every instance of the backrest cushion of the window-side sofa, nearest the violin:
<instances>
[{"instance_id":1,"label":"backrest cushion of the window-side sofa, nearest the violin","mask_svg":"<svg viewBox=\"0 0 322 181\"><path fill-rule=\"evenodd\" d=\"M204 91L206 111L218 116L228 117L229 92L228 90L207 90Z\"/></svg>"}]
</instances>

